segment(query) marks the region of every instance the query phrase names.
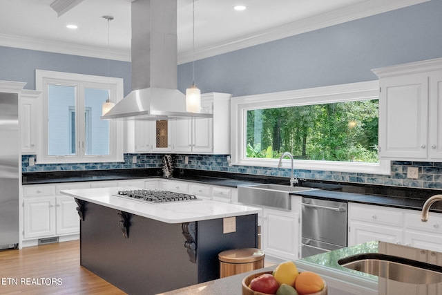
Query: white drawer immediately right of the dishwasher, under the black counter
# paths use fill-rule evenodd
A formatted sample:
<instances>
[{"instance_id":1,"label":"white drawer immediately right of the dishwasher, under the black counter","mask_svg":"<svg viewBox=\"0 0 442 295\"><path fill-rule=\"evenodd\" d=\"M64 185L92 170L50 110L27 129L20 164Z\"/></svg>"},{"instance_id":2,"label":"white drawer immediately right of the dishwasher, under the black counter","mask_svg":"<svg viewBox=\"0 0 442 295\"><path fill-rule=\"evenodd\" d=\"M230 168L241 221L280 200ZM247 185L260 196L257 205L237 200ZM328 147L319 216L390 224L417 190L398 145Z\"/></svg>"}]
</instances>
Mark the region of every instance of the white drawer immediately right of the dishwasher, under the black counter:
<instances>
[{"instance_id":1,"label":"white drawer immediately right of the dishwasher, under the black counter","mask_svg":"<svg viewBox=\"0 0 442 295\"><path fill-rule=\"evenodd\" d=\"M379 206L349 204L349 219L403 227L403 213L400 209L394 208L386 209Z\"/></svg>"}]
</instances>

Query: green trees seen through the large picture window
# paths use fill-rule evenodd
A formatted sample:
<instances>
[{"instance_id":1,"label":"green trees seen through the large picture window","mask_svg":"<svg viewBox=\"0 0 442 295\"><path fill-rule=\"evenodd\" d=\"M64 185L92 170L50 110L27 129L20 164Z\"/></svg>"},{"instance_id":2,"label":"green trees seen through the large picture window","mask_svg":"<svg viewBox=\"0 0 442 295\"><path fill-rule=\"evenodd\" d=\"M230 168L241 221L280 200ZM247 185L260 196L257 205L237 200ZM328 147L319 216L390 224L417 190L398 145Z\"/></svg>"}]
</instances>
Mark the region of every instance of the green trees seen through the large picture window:
<instances>
[{"instance_id":1,"label":"green trees seen through the large picture window","mask_svg":"<svg viewBox=\"0 0 442 295\"><path fill-rule=\"evenodd\" d=\"M247 158L378 162L378 99L247 111Z\"/></svg>"}]
</instances>

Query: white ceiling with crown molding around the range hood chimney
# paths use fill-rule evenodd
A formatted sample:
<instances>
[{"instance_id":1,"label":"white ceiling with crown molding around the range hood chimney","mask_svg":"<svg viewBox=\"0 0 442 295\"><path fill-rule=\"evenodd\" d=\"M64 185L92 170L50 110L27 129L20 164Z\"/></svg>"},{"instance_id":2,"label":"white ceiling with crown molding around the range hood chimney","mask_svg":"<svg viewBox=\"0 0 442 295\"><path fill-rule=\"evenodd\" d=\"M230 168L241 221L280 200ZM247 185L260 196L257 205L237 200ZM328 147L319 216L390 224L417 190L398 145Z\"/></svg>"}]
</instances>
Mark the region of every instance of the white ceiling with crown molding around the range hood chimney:
<instances>
[{"instance_id":1,"label":"white ceiling with crown molding around the range hood chimney","mask_svg":"<svg viewBox=\"0 0 442 295\"><path fill-rule=\"evenodd\" d=\"M0 46L130 60L131 2L84 0L60 17L54 0L1 0ZM428 0L195 0L195 59ZM247 10L236 11L242 4ZM193 59L192 0L177 0L178 60ZM109 23L109 50L107 21ZM75 23L77 30L66 24Z\"/></svg>"}]
</instances>

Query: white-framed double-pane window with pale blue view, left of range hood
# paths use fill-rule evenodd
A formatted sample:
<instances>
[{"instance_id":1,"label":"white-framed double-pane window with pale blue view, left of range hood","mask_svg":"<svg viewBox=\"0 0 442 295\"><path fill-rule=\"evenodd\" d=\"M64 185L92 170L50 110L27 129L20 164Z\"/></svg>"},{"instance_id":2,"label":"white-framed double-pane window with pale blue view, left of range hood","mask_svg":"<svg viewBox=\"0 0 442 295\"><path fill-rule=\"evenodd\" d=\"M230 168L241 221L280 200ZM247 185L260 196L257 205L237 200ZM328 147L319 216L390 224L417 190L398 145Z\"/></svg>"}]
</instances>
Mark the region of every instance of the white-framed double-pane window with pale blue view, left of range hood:
<instances>
[{"instance_id":1,"label":"white-framed double-pane window with pale blue view, left of range hood","mask_svg":"<svg viewBox=\"0 0 442 295\"><path fill-rule=\"evenodd\" d=\"M44 92L40 163L122 162L123 123L100 120L102 104L123 96L119 78L36 71Z\"/></svg>"}]
</instances>

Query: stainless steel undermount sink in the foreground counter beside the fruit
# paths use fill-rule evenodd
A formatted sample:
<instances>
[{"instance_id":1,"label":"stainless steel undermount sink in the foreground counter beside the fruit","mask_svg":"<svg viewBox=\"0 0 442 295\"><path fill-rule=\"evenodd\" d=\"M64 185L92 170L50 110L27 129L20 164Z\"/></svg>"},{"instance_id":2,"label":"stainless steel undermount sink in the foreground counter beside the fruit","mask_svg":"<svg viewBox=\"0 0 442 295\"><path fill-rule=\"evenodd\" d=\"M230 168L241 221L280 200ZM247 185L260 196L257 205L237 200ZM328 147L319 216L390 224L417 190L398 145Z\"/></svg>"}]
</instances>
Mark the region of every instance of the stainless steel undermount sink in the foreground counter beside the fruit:
<instances>
[{"instance_id":1,"label":"stainless steel undermount sink in the foreground counter beside the fruit","mask_svg":"<svg viewBox=\"0 0 442 295\"><path fill-rule=\"evenodd\" d=\"M360 254L340 259L338 264L401 283L427 285L442 282L442 267L397 256Z\"/></svg>"}]
</instances>

